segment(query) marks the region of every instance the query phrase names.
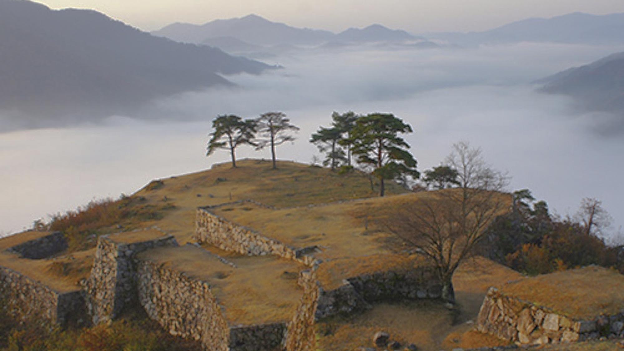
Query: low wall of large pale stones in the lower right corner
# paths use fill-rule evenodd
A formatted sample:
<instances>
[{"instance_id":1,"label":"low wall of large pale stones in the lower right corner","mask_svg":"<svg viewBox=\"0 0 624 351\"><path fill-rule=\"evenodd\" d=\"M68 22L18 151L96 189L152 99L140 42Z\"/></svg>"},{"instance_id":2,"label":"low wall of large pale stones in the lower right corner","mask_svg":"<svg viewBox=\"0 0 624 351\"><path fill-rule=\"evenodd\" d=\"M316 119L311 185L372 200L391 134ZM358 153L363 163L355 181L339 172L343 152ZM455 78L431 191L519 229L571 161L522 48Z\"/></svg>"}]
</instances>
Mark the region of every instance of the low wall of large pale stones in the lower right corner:
<instances>
[{"instance_id":1,"label":"low wall of large pale stones in the lower right corner","mask_svg":"<svg viewBox=\"0 0 624 351\"><path fill-rule=\"evenodd\" d=\"M571 319L490 288L477 317L477 329L529 345L624 337L624 313L590 320Z\"/></svg>"}]
</instances>

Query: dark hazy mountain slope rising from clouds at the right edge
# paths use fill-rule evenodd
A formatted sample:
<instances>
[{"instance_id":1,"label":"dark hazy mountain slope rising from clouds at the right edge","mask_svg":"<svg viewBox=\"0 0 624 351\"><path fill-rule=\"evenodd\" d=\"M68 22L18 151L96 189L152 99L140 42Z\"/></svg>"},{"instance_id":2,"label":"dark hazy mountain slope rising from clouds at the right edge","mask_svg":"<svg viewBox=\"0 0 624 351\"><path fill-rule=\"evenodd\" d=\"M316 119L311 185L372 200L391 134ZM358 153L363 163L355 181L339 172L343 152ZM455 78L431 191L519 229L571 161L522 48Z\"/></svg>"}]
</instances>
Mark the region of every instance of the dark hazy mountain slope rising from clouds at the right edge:
<instances>
[{"instance_id":1,"label":"dark hazy mountain slope rising from clouds at the right edge","mask_svg":"<svg viewBox=\"0 0 624 351\"><path fill-rule=\"evenodd\" d=\"M586 109L624 114L624 52L567 69L538 83L542 84L540 91L571 96Z\"/></svg>"}]
</instances>

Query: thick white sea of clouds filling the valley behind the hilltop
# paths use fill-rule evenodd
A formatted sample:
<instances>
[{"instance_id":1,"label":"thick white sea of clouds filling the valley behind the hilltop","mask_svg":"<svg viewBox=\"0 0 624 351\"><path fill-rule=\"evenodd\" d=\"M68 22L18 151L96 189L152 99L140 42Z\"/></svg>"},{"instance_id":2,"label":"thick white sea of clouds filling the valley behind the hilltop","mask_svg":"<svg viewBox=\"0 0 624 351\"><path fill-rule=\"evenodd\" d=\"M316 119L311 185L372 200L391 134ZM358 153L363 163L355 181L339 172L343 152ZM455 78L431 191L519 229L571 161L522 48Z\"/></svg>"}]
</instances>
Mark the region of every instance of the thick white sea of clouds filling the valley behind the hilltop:
<instances>
[{"instance_id":1,"label":"thick white sea of clouds filling the valley behind the hilltop","mask_svg":"<svg viewBox=\"0 0 624 351\"><path fill-rule=\"evenodd\" d=\"M392 112L419 169L437 166L451 144L469 141L512 176L509 190L529 188L558 214L596 197L624 224L620 179L623 134L613 116L576 111L564 96L532 84L624 47L521 43L479 49L347 47L307 49L266 60L285 68L228 79L238 87L154 101L136 116L99 124L0 134L0 235L92 199L131 194L150 180L207 169L227 152L205 157L218 114L256 117L284 111L301 127L278 158L310 162L308 140L332 111ZM2 129L0 119L0 131ZM241 147L239 157L270 157ZM192 225L192 224L189 224Z\"/></svg>"}]
</instances>

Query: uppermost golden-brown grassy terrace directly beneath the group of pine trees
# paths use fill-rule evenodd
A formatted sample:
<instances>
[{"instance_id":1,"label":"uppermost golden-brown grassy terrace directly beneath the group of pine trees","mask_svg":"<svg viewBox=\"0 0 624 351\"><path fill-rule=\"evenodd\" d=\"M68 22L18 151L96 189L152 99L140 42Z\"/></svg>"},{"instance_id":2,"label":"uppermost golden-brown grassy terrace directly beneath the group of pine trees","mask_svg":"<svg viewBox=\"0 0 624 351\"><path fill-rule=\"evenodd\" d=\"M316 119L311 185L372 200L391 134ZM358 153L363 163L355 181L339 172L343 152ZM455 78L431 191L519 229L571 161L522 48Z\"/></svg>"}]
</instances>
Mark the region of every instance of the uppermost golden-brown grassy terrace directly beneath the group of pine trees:
<instances>
[{"instance_id":1,"label":"uppermost golden-brown grassy terrace directly beneath the group of pine trees","mask_svg":"<svg viewBox=\"0 0 624 351\"><path fill-rule=\"evenodd\" d=\"M389 194L405 192L398 185L388 186ZM374 197L369 180L362 174L339 175L328 169L295 162L278 162L271 169L270 161L241 160L238 168L230 164L215 165L209 171L155 180L135 196L144 197L146 204L175 208L164 212L159 220L142 223L143 227L158 225L176 237L180 244L193 234L197 207L253 199L279 208L323 204L345 199Z\"/></svg>"}]
</instances>

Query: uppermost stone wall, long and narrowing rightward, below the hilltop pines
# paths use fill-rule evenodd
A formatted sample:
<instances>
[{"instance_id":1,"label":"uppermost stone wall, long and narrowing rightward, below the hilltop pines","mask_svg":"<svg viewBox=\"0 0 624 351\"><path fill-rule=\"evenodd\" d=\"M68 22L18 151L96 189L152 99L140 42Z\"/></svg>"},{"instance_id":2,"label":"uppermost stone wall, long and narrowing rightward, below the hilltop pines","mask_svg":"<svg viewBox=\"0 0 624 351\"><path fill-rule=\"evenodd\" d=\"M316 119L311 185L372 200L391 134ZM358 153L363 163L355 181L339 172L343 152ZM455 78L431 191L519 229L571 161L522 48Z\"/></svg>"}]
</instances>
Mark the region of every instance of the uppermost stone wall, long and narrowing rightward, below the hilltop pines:
<instances>
[{"instance_id":1,"label":"uppermost stone wall, long and narrowing rightward, below the hilltop pines","mask_svg":"<svg viewBox=\"0 0 624 351\"><path fill-rule=\"evenodd\" d=\"M242 225L230 222L210 212L213 207L197 209L195 236L199 243L208 243L222 250L243 255L278 255L285 259L296 260L305 265L313 265L316 259L308 253L313 248L297 250L275 239L270 239Z\"/></svg>"}]
</instances>

